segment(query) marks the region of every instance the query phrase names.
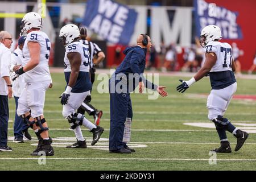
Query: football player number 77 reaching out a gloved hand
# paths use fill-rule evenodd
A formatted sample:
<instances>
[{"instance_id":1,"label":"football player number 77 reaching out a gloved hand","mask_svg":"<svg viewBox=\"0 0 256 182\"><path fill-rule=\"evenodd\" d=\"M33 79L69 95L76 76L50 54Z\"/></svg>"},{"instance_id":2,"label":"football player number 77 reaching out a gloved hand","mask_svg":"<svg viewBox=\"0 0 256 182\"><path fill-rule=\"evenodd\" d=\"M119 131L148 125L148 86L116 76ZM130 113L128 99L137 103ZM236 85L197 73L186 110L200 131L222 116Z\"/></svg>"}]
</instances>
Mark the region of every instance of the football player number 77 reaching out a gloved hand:
<instances>
[{"instance_id":1,"label":"football player number 77 reaching out a gloved hand","mask_svg":"<svg viewBox=\"0 0 256 182\"><path fill-rule=\"evenodd\" d=\"M200 44L204 48L205 63L190 80L180 80L182 83L177 86L177 91L185 92L192 84L209 73L212 90L207 100L208 118L215 124L221 140L221 146L213 151L230 153L232 150L226 137L226 131L237 138L234 151L240 150L249 134L237 129L229 119L224 118L225 111L237 90L237 82L233 73L236 71L236 65L232 59L232 47L228 43L218 42L221 38L220 27L209 25L203 28Z\"/></svg>"}]
</instances>

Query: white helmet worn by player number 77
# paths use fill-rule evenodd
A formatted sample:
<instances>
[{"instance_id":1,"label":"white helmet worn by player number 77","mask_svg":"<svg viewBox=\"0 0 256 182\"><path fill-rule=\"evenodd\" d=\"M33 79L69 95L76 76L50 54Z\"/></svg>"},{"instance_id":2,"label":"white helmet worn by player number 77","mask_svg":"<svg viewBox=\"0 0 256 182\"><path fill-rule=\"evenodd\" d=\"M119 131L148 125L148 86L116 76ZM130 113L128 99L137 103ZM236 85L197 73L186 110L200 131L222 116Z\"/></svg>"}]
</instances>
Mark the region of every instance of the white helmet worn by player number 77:
<instances>
[{"instance_id":1,"label":"white helmet worn by player number 77","mask_svg":"<svg viewBox=\"0 0 256 182\"><path fill-rule=\"evenodd\" d=\"M221 29L216 25L208 25L203 28L200 35L200 44L205 47L209 42L221 40Z\"/></svg>"}]
</instances>

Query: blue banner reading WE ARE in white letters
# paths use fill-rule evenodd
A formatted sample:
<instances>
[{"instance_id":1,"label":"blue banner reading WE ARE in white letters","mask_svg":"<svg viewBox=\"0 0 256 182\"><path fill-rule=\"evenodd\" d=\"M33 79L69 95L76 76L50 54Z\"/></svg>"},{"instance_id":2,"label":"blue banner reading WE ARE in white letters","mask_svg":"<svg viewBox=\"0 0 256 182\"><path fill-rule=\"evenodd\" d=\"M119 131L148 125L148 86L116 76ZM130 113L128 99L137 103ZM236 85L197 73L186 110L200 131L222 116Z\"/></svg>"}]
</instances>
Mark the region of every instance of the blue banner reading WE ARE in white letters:
<instances>
[{"instance_id":1,"label":"blue banner reading WE ARE in white letters","mask_svg":"<svg viewBox=\"0 0 256 182\"><path fill-rule=\"evenodd\" d=\"M110 0L89 0L82 24L103 39L128 45L137 20L137 12Z\"/></svg>"}]
</instances>

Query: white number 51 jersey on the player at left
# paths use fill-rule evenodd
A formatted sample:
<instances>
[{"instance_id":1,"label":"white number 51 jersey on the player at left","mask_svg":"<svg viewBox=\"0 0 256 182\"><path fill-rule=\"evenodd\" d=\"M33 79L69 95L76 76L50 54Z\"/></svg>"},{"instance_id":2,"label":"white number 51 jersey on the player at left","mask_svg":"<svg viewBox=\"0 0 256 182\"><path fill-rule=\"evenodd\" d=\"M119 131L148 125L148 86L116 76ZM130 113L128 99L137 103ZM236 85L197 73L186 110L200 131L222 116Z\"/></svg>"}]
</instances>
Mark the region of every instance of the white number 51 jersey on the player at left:
<instances>
[{"instance_id":1,"label":"white number 51 jersey on the player at left","mask_svg":"<svg viewBox=\"0 0 256 182\"><path fill-rule=\"evenodd\" d=\"M38 42L40 44L40 61L35 68L24 73L25 82L38 82L51 80L49 73L49 53L51 49L51 42L46 33L42 31L32 31L27 35L24 47L22 49L23 60L22 66L26 65L31 60L30 52L27 47L28 42Z\"/></svg>"}]
</instances>

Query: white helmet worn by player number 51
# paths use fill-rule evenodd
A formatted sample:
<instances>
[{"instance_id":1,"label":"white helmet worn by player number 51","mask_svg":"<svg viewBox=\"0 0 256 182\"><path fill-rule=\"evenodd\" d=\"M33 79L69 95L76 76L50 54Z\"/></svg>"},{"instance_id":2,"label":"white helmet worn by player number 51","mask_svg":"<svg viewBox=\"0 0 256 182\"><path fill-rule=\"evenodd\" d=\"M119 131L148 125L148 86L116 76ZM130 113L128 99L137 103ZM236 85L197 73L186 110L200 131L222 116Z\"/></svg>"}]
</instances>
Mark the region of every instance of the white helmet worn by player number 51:
<instances>
[{"instance_id":1,"label":"white helmet worn by player number 51","mask_svg":"<svg viewBox=\"0 0 256 182\"><path fill-rule=\"evenodd\" d=\"M24 15L20 26L20 36L26 36L31 28L42 28L42 17L38 13L30 12Z\"/></svg>"}]
</instances>

